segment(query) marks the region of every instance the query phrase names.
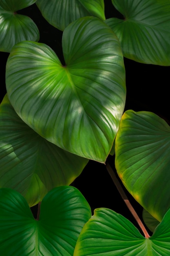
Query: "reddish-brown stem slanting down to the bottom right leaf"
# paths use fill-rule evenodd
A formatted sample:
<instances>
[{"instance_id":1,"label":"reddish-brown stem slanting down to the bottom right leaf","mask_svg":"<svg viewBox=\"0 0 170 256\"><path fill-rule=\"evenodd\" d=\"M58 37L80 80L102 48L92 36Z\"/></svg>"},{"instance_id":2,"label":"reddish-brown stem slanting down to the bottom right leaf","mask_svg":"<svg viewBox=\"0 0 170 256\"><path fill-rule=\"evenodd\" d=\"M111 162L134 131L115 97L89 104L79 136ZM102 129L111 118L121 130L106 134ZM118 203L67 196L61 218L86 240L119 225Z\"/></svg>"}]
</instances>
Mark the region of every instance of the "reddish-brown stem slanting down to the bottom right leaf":
<instances>
[{"instance_id":1,"label":"reddish-brown stem slanting down to the bottom right leaf","mask_svg":"<svg viewBox=\"0 0 170 256\"><path fill-rule=\"evenodd\" d=\"M149 238L150 236L149 236L146 228L144 227L144 224L141 222L141 220L140 220L139 216L137 215L135 209L132 207L132 204L128 200L124 190L122 189L122 186L121 186L119 180L117 179L113 169L111 168L110 164L108 164L108 162L106 163L106 169L107 169L108 173L110 174L110 176L111 176L115 186L117 187L117 190L119 191L122 199L124 200L126 206L128 207L129 211L132 213L132 216L135 218L139 227L141 228L142 232L144 233L145 238Z\"/></svg>"}]
</instances>

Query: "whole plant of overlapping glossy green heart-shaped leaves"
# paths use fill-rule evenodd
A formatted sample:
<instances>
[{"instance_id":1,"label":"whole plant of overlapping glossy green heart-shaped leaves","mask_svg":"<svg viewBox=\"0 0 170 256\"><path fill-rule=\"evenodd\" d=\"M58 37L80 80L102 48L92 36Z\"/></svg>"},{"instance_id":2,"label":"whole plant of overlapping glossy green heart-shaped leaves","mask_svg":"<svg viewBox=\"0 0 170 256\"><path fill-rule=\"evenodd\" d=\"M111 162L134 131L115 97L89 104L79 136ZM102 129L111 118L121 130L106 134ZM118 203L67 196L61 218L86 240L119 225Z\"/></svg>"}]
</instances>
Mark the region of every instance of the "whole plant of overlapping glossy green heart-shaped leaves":
<instances>
[{"instance_id":1,"label":"whole plant of overlapping glossy green heart-shaped leaves","mask_svg":"<svg viewBox=\"0 0 170 256\"><path fill-rule=\"evenodd\" d=\"M10 52L0 105L4 256L170 254L170 127L152 112L124 112L124 57L170 65L170 2L112 3L123 19L107 19L103 0L0 2L0 50ZM17 13L32 4L63 31L64 61ZM89 159L105 163L114 151L117 173L144 207L151 237L110 209L91 216L82 194L68 186ZM29 209L35 204L36 220Z\"/></svg>"}]
</instances>

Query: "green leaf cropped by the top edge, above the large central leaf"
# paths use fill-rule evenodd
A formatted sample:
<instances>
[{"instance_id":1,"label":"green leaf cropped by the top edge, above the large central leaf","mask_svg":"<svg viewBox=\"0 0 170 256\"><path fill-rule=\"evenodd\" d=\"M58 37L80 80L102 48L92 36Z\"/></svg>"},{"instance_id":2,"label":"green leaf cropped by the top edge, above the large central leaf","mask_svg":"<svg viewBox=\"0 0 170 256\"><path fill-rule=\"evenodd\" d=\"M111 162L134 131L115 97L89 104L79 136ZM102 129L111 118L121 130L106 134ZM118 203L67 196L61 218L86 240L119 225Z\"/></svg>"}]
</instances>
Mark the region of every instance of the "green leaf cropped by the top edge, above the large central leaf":
<instances>
[{"instance_id":1,"label":"green leaf cropped by the top edge, above the large central leaf","mask_svg":"<svg viewBox=\"0 0 170 256\"><path fill-rule=\"evenodd\" d=\"M54 27L64 30L84 16L105 20L104 0L37 0L42 16Z\"/></svg>"}]
</instances>

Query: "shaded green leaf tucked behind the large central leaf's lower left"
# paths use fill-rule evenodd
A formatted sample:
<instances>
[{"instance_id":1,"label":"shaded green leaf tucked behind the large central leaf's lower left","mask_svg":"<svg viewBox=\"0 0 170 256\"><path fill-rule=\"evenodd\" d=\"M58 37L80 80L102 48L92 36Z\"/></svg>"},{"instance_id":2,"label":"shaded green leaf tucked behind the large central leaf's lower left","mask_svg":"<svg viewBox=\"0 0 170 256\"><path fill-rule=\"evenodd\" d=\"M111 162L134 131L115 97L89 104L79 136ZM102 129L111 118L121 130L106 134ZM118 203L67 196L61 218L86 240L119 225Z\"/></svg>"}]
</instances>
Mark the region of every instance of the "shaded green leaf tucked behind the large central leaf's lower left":
<instances>
[{"instance_id":1,"label":"shaded green leaf tucked behind the large central leaf's lower left","mask_svg":"<svg viewBox=\"0 0 170 256\"><path fill-rule=\"evenodd\" d=\"M38 135L7 96L0 104L0 141L0 187L17 190L30 207L55 186L71 184L88 162Z\"/></svg>"}]
</instances>

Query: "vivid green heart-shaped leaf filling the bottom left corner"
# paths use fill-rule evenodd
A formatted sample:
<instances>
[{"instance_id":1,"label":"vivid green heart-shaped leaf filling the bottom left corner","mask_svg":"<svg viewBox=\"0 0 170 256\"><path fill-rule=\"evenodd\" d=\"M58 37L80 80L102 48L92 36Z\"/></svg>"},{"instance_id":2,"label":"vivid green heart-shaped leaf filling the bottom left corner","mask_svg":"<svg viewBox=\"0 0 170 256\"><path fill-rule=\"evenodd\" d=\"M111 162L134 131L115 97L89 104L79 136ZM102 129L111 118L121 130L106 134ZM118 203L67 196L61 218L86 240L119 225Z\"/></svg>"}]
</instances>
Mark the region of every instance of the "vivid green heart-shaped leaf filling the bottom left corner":
<instances>
[{"instance_id":1,"label":"vivid green heart-shaped leaf filling the bottom left corner","mask_svg":"<svg viewBox=\"0 0 170 256\"><path fill-rule=\"evenodd\" d=\"M74 187L60 186L42 200L35 220L17 191L0 189L0 255L73 256L91 209Z\"/></svg>"}]
</instances>

